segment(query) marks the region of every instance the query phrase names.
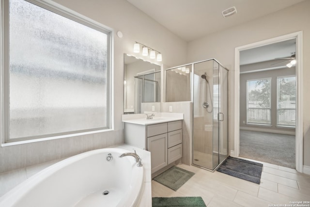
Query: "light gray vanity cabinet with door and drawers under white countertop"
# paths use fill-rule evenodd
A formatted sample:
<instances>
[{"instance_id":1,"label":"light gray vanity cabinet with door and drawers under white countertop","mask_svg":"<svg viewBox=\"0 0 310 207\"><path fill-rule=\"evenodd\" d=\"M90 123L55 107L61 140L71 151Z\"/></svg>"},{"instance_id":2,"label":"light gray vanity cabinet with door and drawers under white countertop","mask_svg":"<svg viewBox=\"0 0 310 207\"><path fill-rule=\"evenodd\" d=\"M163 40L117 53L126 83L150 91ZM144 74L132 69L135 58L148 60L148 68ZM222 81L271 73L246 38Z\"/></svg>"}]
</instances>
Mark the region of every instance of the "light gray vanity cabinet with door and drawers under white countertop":
<instances>
[{"instance_id":1,"label":"light gray vanity cabinet with door and drawers under white countertop","mask_svg":"<svg viewBox=\"0 0 310 207\"><path fill-rule=\"evenodd\" d=\"M124 127L125 143L151 152L152 173L182 158L182 120Z\"/></svg>"}]
</instances>

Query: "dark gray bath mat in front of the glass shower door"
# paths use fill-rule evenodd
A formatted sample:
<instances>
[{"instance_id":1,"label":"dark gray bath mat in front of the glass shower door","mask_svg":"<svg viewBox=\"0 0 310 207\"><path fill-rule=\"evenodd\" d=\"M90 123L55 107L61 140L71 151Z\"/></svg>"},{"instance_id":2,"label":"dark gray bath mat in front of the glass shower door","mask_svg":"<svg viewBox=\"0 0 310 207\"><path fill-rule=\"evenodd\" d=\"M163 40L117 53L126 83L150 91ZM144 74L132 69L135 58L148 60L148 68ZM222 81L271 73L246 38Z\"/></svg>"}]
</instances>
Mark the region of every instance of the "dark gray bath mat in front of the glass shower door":
<instances>
[{"instance_id":1,"label":"dark gray bath mat in front of the glass shower door","mask_svg":"<svg viewBox=\"0 0 310 207\"><path fill-rule=\"evenodd\" d=\"M261 182L262 170L263 164L261 163L233 157L228 157L221 166L217 168L218 172L257 184L260 184Z\"/></svg>"}]
</instances>

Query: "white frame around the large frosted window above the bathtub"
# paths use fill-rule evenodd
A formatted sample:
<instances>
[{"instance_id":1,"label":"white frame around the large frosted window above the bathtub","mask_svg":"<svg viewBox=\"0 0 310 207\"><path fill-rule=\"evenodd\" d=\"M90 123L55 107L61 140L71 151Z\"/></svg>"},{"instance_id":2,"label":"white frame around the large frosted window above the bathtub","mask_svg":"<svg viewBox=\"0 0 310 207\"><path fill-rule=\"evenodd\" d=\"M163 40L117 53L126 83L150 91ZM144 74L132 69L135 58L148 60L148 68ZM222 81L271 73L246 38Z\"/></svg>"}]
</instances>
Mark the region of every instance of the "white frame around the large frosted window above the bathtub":
<instances>
[{"instance_id":1,"label":"white frame around the large frosted window above the bathtub","mask_svg":"<svg viewBox=\"0 0 310 207\"><path fill-rule=\"evenodd\" d=\"M78 131L67 131L61 133L53 133L50 135L42 136L31 136L27 139L14 139L13 141L9 139L9 0L0 0L0 49L1 49L1 60L0 60L0 138L1 145L14 145L20 143L31 143L37 141L59 139L65 137L72 137L90 133L98 133L104 131L114 130L113 126L113 93L112 93L112 76L113 76L113 34L114 31L99 23L93 19L83 16L77 12L74 12L56 2L50 0L26 0L36 6L47 9L50 12L63 16L65 18L71 19L75 22L83 24L89 28L96 31L103 32L107 35L107 126L100 129L85 129Z\"/></svg>"}]
</instances>

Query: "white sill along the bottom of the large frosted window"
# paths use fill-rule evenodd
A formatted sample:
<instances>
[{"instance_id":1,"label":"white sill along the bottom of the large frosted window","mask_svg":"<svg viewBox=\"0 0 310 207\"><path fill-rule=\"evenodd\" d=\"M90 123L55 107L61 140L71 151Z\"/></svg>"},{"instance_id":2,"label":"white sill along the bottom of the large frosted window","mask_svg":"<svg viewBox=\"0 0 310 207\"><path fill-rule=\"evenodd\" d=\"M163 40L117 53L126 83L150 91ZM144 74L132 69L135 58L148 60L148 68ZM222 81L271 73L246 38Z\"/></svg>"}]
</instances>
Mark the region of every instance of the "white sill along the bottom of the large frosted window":
<instances>
[{"instance_id":1,"label":"white sill along the bottom of the large frosted window","mask_svg":"<svg viewBox=\"0 0 310 207\"><path fill-rule=\"evenodd\" d=\"M73 134L58 135L58 136L39 138L39 139L23 140L23 141L16 141L16 142L10 142L10 143L2 143L1 147L13 146L13 145L25 144L25 143L36 143L36 142L42 142L42 141L48 141L48 140L56 140L56 139L62 139L62 138L68 138L68 137L77 137L77 136L82 136L82 135L87 135L87 134L94 134L94 133L100 133L100 132L108 132L108 131L113 131L113 130L114 130L113 128L100 129L100 130L94 130L94 131L86 131L86 132L79 132L79 133L73 133Z\"/></svg>"}]
</instances>

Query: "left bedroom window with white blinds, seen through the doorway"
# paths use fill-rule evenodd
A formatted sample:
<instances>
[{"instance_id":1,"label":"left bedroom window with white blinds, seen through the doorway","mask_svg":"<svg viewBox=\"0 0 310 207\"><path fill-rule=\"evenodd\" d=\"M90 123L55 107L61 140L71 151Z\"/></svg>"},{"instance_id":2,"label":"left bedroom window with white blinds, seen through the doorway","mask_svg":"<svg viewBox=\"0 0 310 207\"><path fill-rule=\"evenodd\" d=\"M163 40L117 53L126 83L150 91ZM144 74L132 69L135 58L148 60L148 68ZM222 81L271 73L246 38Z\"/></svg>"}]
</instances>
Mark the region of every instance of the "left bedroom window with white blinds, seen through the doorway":
<instances>
[{"instance_id":1,"label":"left bedroom window with white blinds, seen through the doorway","mask_svg":"<svg viewBox=\"0 0 310 207\"><path fill-rule=\"evenodd\" d=\"M271 126L271 78L247 80L247 124Z\"/></svg>"}]
</instances>

